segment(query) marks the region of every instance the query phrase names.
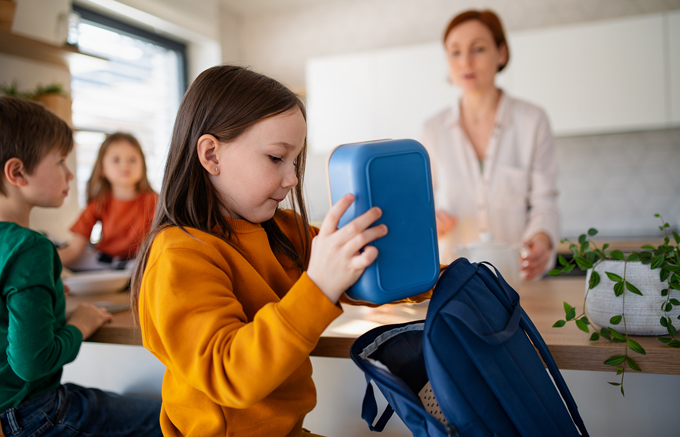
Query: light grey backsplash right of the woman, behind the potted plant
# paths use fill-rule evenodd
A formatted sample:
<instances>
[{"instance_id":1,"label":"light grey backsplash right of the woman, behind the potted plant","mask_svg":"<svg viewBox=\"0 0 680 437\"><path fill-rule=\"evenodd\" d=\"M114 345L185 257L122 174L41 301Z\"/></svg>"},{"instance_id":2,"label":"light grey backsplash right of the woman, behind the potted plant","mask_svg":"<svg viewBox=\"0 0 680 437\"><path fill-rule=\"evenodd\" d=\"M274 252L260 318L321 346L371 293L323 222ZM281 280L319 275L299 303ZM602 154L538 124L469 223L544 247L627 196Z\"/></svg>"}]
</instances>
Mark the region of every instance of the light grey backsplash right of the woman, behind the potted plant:
<instances>
[{"instance_id":1,"label":"light grey backsplash right of the woman, behind the potted plant","mask_svg":"<svg viewBox=\"0 0 680 437\"><path fill-rule=\"evenodd\" d=\"M562 235L658 236L680 224L680 128L556 139Z\"/></svg>"}]
</instances>

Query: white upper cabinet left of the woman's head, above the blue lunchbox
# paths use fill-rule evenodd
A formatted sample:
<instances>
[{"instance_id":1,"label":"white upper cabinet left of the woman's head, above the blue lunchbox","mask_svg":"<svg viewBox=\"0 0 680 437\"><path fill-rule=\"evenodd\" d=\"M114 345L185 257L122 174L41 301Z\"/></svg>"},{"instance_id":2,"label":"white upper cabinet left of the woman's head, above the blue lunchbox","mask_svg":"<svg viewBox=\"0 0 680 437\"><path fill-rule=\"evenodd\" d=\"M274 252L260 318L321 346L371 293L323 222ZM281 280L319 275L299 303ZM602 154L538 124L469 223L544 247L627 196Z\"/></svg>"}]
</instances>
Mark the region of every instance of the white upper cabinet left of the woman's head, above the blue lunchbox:
<instances>
[{"instance_id":1,"label":"white upper cabinet left of the woman's head, above the blue lunchbox","mask_svg":"<svg viewBox=\"0 0 680 437\"><path fill-rule=\"evenodd\" d=\"M372 139L418 139L425 120L457 95L447 83L439 43L310 60L311 151Z\"/></svg>"}]
</instances>

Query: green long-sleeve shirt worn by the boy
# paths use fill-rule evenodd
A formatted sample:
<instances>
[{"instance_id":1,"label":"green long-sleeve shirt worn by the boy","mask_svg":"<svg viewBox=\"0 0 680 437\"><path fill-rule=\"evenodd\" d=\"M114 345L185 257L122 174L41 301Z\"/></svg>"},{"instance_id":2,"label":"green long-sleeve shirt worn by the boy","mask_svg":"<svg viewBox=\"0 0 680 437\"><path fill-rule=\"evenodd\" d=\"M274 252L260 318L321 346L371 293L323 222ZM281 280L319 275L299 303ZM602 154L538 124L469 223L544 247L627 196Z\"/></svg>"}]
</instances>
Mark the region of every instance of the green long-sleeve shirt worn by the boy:
<instances>
[{"instance_id":1,"label":"green long-sleeve shirt worn by the boy","mask_svg":"<svg viewBox=\"0 0 680 437\"><path fill-rule=\"evenodd\" d=\"M56 389L82 334L66 324L61 261L44 235L0 222L0 414Z\"/></svg>"}]
</instances>

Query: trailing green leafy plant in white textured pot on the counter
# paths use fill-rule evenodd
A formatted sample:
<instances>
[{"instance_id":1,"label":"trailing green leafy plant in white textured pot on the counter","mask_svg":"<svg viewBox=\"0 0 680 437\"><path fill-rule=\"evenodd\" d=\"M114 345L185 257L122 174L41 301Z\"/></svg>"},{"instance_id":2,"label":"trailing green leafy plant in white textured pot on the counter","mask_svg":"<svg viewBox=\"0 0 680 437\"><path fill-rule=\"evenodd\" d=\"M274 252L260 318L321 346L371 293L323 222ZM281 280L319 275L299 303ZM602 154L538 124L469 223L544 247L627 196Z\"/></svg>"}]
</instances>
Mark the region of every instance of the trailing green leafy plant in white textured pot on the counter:
<instances>
[{"instance_id":1,"label":"trailing green leafy plant in white textured pot on the counter","mask_svg":"<svg viewBox=\"0 0 680 437\"><path fill-rule=\"evenodd\" d=\"M631 335L664 334L658 337L659 341L669 347L680 348L674 325L675 319L680 319L680 235L672 232L673 245L668 234L670 226L660 214L654 216L660 218L662 224L659 229L666 235L662 245L643 245L643 250L628 254L620 250L608 251L609 244L598 247L592 240L598 231L590 228L579 236L578 244L563 240L570 243L573 259L567 261L559 256L560 267L548 273L568 273L575 265L588 270L580 314L577 315L576 308L564 302L566 317L556 321L553 327L561 328L573 321L583 332L590 334L590 327L594 329L591 341L605 338L613 343L624 343L623 355L614 355L604 362L621 375L621 382L610 384L620 386L624 396L626 368L642 370L630 351L646 354L645 349L630 338ZM600 330L596 330L594 325Z\"/></svg>"}]
</instances>

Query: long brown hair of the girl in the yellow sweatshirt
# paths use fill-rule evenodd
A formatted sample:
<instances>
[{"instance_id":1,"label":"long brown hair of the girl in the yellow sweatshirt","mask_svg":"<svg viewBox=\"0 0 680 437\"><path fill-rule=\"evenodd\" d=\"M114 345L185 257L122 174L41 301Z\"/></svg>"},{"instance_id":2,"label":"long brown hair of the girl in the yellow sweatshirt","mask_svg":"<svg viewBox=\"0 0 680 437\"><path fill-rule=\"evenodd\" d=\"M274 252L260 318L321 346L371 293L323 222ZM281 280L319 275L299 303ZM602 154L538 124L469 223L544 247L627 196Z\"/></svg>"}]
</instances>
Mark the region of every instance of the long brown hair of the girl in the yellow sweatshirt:
<instances>
[{"instance_id":1,"label":"long brown hair of the girl in the yellow sweatshirt","mask_svg":"<svg viewBox=\"0 0 680 437\"><path fill-rule=\"evenodd\" d=\"M227 210L224 202L199 161L196 150L199 137L209 134L222 143L235 141L256 123L292 109L300 109L307 119L305 105L296 94L271 77L244 67L218 65L203 71L194 80L177 111L154 224L137 253L131 283L133 315L137 322L141 280L159 232L171 226L184 232L187 232L184 228L195 228L215 235L238 250L231 241L234 230L222 215ZM274 217L262 223L272 251L286 256L301 270L308 262L311 239L302 192L305 156L306 137L295 164L298 184L290 191L289 202L292 209L300 213L294 217L303 252L300 254L295 249Z\"/></svg>"}]
</instances>

